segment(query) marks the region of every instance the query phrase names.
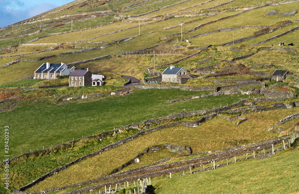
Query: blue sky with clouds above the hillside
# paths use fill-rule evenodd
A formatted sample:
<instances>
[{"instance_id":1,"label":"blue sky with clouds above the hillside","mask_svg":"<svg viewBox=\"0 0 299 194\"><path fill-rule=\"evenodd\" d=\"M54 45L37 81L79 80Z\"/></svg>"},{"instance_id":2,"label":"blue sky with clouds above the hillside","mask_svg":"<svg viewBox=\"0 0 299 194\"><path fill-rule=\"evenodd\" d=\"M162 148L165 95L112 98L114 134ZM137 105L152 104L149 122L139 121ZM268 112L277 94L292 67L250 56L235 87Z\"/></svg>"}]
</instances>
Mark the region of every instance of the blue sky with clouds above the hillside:
<instances>
[{"instance_id":1,"label":"blue sky with clouds above the hillside","mask_svg":"<svg viewBox=\"0 0 299 194\"><path fill-rule=\"evenodd\" d=\"M36 16L74 0L0 0L0 27Z\"/></svg>"}]
</instances>

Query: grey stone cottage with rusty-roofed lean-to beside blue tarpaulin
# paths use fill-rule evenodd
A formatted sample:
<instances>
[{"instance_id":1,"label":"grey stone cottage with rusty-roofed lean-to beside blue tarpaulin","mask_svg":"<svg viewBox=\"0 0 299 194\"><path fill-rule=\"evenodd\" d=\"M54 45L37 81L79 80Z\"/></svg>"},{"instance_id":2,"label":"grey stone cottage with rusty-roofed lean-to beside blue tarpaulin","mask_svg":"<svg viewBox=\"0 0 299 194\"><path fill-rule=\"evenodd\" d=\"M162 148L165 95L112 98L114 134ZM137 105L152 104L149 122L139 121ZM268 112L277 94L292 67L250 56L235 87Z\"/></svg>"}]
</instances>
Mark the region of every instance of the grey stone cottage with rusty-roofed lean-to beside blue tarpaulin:
<instances>
[{"instance_id":1,"label":"grey stone cottage with rusty-roofed lean-to beside blue tarpaulin","mask_svg":"<svg viewBox=\"0 0 299 194\"><path fill-rule=\"evenodd\" d=\"M167 67L162 73L162 82L185 84L191 78L188 71L183 67L175 67L173 65Z\"/></svg>"}]
</instances>

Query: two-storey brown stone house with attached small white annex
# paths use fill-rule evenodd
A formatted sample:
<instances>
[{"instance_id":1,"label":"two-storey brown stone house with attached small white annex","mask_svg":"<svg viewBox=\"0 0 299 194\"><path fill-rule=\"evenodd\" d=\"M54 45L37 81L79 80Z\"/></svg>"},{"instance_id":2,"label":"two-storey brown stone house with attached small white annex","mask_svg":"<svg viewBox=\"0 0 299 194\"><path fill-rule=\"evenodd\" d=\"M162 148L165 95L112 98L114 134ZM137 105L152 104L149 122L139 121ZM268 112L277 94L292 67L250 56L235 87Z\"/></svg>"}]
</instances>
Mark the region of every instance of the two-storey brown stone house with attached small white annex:
<instances>
[{"instance_id":1,"label":"two-storey brown stone house with attached small white annex","mask_svg":"<svg viewBox=\"0 0 299 194\"><path fill-rule=\"evenodd\" d=\"M90 68L75 70L71 73L68 80L69 87L102 86L103 84L103 75L93 74Z\"/></svg>"}]
</instances>

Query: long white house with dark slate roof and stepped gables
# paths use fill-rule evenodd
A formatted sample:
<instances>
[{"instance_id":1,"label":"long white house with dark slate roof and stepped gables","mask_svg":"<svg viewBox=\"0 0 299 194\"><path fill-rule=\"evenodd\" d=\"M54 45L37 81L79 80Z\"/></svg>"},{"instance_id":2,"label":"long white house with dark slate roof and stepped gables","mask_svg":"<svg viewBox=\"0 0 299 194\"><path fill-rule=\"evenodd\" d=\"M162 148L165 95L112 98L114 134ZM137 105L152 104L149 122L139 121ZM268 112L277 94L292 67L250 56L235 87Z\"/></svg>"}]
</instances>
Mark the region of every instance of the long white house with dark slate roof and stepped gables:
<instances>
[{"instance_id":1,"label":"long white house with dark slate roof and stepped gables","mask_svg":"<svg viewBox=\"0 0 299 194\"><path fill-rule=\"evenodd\" d=\"M49 62L42 64L34 71L33 79L56 79L57 76L66 76L71 74L75 67L68 67L66 64L51 64Z\"/></svg>"}]
</instances>

